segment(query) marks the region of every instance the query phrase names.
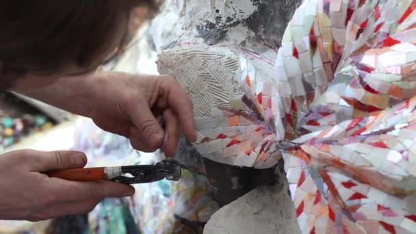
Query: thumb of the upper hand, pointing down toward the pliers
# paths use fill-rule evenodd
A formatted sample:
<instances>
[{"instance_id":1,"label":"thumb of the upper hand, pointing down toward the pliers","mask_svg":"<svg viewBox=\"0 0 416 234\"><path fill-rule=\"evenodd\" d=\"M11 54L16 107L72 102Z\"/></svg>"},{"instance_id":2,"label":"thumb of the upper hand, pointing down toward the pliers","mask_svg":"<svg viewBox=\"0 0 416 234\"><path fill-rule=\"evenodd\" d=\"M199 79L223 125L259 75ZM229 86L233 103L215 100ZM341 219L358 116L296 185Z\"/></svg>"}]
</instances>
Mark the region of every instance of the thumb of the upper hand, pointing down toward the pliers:
<instances>
[{"instance_id":1,"label":"thumb of the upper hand, pointing down toward the pliers","mask_svg":"<svg viewBox=\"0 0 416 234\"><path fill-rule=\"evenodd\" d=\"M130 132L130 137L155 150L160 148L164 140L164 130L153 116L148 104L136 103L135 106L129 107L129 116L135 125L135 128L130 128L133 130Z\"/></svg>"}]
</instances>

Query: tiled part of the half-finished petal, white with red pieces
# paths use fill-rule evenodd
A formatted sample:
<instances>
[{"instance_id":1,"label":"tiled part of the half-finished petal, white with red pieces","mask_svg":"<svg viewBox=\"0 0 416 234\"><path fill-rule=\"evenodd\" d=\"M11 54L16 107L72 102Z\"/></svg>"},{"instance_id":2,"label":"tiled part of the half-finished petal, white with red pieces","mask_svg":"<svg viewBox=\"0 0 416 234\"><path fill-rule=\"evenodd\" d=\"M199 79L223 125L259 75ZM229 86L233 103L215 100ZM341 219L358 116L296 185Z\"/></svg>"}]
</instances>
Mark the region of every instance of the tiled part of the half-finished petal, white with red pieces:
<instances>
[{"instance_id":1,"label":"tiled part of the half-finished petal, white with red pieces","mask_svg":"<svg viewBox=\"0 0 416 234\"><path fill-rule=\"evenodd\" d=\"M244 95L214 107L212 116L196 119L196 148L204 157L224 164L270 168L281 158L277 143L283 140L278 134L283 132L281 119L273 114L277 111L274 81L257 73L243 56L239 64L235 77Z\"/></svg>"}]
</instances>

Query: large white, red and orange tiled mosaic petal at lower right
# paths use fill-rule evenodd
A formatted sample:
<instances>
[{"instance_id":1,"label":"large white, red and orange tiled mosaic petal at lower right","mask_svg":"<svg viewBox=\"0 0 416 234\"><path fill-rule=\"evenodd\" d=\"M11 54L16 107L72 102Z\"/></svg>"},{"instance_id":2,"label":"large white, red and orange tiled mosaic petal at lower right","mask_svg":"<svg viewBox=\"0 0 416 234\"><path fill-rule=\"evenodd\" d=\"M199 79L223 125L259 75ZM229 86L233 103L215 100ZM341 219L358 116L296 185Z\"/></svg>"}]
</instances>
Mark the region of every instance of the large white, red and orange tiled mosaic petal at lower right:
<instances>
[{"instance_id":1,"label":"large white, red and orange tiled mosaic petal at lower right","mask_svg":"<svg viewBox=\"0 0 416 234\"><path fill-rule=\"evenodd\" d=\"M304 135L284 154L304 233L416 231L416 98Z\"/></svg>"}]
</instances>

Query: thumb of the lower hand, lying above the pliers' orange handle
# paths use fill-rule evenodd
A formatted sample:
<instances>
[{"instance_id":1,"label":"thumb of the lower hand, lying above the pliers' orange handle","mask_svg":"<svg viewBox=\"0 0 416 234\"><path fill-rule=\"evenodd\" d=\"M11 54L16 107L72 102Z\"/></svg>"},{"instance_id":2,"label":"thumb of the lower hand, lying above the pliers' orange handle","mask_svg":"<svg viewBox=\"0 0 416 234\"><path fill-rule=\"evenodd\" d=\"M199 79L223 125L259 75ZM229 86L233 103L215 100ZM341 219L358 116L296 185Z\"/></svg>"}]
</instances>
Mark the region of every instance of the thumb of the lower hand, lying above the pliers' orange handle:
<instances>
[{"instance_id":1,"label":"thumb of the lower hand, lying above the pliers' orange handle","mask_svg":"<svg viewBox=\"0 0 416 234\"><path fill-rule=\"evenodd\" d=\"M34 151L31 162L34 171L49 172L51 170L83 168L87 164L87 157L79 151Z\"/></svg>"}]
</instances>

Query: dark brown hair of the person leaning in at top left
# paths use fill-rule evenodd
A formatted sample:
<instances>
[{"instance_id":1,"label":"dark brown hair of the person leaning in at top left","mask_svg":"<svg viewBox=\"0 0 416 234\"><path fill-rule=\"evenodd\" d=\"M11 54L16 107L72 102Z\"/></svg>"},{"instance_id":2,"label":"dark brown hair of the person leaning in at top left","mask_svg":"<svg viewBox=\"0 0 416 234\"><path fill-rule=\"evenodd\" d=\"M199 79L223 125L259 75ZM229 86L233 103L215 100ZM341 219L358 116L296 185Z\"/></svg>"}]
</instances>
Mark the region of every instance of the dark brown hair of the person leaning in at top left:
<instances>
[{"instance_id":1,"label":"dark brown hair of the person leaning in at top left","mask_svg":"<svg viewBox=\"0 0 416 234\"><path fill-rule=\"evenodd\" d=\"M120 25L122 18L136 14L127 22L138 26L157 6L155 0L0 1L0 89L27 73L51 75L68 63L98 66L94 58L111 51L116 29L127 26ZM150 14L137 16L140 7ZM130 38L126 32L122 44Z\"/></svg>"}]
</instances>

